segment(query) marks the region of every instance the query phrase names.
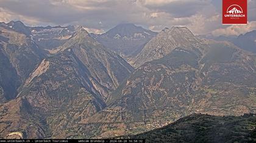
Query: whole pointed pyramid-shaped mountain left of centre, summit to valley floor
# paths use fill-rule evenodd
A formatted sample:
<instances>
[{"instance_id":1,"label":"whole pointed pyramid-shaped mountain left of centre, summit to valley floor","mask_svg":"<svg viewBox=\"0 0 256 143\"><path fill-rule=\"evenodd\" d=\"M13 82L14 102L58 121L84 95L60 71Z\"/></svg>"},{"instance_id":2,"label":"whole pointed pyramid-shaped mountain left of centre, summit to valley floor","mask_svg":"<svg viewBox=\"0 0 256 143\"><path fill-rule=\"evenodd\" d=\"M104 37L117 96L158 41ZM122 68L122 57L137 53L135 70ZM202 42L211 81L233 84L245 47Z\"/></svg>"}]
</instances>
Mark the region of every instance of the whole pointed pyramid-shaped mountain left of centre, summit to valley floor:
<instances>
[{"instance_id":1,"label":"whole pointed pyramid-shaped mountain left of centre, summit to valley floor","mask_svg":"<svg viewBox=\"0 0 256 143\"><path fill-rule=\"evenodd\" d=\"M10 101L26 98L34 111L27 116L43 116L41 123L32 119L38 124L33 130L28 128L30 124L16 127L17 130L27 133L27 138L38 138L33 131L40 128L43 138L66 138L66 128L75 127L82 119L106 107L108 93L132 71L123 58L108 52L82 27L78 28L72 38L41 60L20 87L18 98ZM25 117L20 111L15 116L22 120ZM6 132L15 128L15 123L9 122ZM69 134L76 135L76 132Z\"/></svg>"}]
</instances>

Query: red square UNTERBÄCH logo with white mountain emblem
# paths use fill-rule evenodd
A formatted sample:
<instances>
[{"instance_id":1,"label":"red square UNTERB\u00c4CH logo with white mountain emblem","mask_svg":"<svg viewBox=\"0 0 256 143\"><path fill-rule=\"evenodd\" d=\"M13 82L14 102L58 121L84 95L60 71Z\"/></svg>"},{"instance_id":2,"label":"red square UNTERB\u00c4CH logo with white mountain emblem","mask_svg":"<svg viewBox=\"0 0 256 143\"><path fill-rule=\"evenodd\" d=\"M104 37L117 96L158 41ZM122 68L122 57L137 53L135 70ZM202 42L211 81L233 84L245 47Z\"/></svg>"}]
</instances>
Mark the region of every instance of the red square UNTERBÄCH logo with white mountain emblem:
<instances>
[{"instance_id":1,"label":"red square UNTERB\u00c4CH logo with white mountain emblem","mask_svg":"<svg viewBox=\"0 0 256 143\"><path fill-rule=\"evenodd\" d=\"M247 0L222 0L222 24L247 24Z\"/></svg>"}]
</instances>

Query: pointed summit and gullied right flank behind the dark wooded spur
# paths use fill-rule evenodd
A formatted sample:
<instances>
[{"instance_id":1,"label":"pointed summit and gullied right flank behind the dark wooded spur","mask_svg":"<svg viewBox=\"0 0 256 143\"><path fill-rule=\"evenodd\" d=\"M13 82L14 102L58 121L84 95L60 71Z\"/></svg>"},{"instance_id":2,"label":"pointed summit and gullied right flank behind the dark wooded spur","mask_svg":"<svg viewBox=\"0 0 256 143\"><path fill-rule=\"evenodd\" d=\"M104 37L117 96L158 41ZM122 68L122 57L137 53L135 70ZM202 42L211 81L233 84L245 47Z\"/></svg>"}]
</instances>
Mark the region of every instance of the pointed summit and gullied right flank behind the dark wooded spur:
<instances>
[{"instance_id":1,"label":"pointed summit and gullied right flank behind the dark wooded spur","mask_svg":"<svg viewBox=\"0 0 256 143\"><path fill-rule=\"evenodd\" d=\"M104 96L104 101L108 98L109 91L118 87L133 71L123 58L105 49L82 27L77 29L73 38L51 52L56 54L68 49L85 65L91 76L90 81L96 89L95 93Z\"/></svg>"}]
</instances>

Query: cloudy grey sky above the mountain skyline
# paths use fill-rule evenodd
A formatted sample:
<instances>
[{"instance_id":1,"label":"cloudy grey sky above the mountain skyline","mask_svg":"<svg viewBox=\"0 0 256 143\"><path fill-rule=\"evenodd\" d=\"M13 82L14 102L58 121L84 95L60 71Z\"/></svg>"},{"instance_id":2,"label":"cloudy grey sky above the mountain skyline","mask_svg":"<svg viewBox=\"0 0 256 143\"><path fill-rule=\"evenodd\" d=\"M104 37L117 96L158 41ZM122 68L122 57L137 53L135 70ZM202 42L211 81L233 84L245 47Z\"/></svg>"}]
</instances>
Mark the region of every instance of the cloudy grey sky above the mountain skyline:
<instances>
[{"instance_id":1,"label":"cloudy grey sky above the mountain skyline","mask_svg":"<svg viewBox=\"0 0 256 143\"><path fill-rule=\"evenodd\" d=\"M247 25L222 25L222 0L0 0L0 21L20 20L30 26L83 25L94 33L124 22L155 32L182 25L197 35L239 35L256 30L256 0L247 1Z\"/></svg>"}]
</instances>

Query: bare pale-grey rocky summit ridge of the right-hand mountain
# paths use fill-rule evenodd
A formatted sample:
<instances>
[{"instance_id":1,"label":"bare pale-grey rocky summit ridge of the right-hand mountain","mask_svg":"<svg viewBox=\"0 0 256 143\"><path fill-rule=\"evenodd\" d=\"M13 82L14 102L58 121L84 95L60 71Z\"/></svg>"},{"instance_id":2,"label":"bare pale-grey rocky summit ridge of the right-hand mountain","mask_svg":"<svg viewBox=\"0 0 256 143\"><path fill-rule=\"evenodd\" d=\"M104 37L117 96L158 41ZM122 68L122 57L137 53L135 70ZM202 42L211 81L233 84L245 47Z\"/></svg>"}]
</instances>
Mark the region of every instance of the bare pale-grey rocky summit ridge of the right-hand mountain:
<instances>
[{"instance_id":1,"label":"bare pale-grey rocky summit ridge of the right-hand mountain","mask_svg":"<svg viewBox=\"0 0 256 143\"><path fill-rule=\"evenodd\" d=\"M152 38L132 59L131 64L135 67L154 59L168 55L176 47L196 47L202 42L196 38L187 27L165 28L157 36Z\"/></svg>"}]
</instances>

